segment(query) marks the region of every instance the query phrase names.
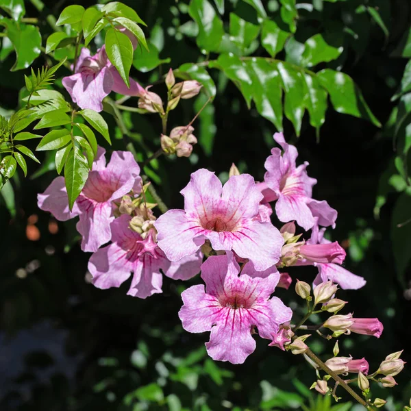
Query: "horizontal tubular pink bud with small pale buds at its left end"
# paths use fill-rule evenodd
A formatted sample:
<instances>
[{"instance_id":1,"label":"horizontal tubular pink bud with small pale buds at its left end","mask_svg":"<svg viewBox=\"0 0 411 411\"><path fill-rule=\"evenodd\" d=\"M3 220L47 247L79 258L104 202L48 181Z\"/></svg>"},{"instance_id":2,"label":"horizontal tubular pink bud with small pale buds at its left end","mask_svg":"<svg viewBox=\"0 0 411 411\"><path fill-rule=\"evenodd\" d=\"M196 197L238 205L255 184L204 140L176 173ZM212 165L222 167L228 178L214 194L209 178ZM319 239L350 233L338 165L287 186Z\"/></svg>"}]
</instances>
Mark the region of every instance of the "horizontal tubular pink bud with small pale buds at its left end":
<instances>
[{"instance_id":1,"label":"horizontal tubular pink bud with small pale buds at its left end","mask_svg":"<svg viewBox=\"0 0 411 411\"><path fill-rule=\"evenodd\" d=\"M284 238L282 258L278 266L320 264L342 264L345 260L345 250L338 242L326 244L306 244L299 241L301 234L295 235L295 223L286 223L279 230Z\"/></svg>"}]
</instances>

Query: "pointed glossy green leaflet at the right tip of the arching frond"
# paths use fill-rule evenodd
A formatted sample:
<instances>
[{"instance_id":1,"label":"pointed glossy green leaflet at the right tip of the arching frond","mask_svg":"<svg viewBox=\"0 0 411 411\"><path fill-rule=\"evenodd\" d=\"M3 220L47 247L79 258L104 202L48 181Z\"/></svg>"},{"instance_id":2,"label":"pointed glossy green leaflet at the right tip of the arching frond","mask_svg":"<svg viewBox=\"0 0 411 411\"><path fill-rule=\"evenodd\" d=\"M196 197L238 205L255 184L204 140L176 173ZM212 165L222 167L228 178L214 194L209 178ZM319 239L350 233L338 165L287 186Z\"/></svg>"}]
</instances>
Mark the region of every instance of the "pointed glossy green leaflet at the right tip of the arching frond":
<instances>
[{"instance_id":1,"label":"pointed glossy green leaflet at the right tip of the arching frond","mask_svg":"<svg viewBox=\"0 0 411 411\"><path fill-rule=\"evenodd\" d=\"M381 127L381 123L375 118L360 89L349 75L325 69L317 74L317 78L329 92L332 105L337 112L369 120L377 127Z\"/></svg>"}]
</instances>

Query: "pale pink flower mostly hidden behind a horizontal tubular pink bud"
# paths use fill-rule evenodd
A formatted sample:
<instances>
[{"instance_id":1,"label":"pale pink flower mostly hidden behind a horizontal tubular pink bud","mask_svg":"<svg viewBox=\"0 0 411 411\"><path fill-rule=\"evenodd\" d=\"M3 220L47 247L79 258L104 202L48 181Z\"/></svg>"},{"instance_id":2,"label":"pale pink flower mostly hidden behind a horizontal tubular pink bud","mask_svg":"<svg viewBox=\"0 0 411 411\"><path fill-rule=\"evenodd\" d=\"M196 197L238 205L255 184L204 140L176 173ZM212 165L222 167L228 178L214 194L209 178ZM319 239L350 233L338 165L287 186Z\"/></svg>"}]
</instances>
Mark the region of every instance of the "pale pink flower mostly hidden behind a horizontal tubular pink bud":
<instances>
[{"instance_id":1,"label":"pale pink flower mostly hidden behind a horizontal tubular pink bud","mask_svg":"<svg viewBox=\"0 0 411 411\"><path fill-rule=\"evenodd\" d=\"M314 225L311 238L308 242L310 242L310 244L330 244L330 241L324 238L324 232L324 228L319 229L318 225ZM331 280L332 282L339 284L343 290L358 290L358 288L361 288L366 284L363 277L351 273L338 264L330 262L328 264L314 263L314 265L319 269L319 275L314 279L314 286Z\"/></svg>"}]
</instances>

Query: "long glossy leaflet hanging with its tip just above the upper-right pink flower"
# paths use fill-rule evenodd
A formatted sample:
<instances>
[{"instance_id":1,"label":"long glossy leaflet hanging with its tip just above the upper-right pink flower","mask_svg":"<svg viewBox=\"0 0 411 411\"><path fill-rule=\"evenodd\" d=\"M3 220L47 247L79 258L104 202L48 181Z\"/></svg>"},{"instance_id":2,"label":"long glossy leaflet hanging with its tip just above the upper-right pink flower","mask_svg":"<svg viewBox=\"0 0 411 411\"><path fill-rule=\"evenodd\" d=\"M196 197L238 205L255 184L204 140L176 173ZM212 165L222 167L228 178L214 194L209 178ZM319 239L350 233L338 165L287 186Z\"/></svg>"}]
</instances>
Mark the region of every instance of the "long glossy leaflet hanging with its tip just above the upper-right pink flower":
<instances>
[{"instance_id":1,"label":"long glossy leaflet hanging with its tip just above the upper-right pink flower","mask_svg":"<svg viewBox=\"0 0 411 411\"><path fill-rule=\"evenodd\" d=\"M252 96L257 111L282 131L282 79L275 63L253 58L247 61L247 71L253 80Z\"/></svg>"}]
</instances>

